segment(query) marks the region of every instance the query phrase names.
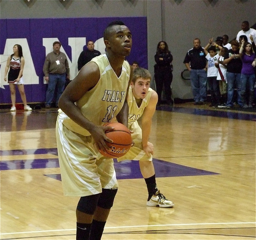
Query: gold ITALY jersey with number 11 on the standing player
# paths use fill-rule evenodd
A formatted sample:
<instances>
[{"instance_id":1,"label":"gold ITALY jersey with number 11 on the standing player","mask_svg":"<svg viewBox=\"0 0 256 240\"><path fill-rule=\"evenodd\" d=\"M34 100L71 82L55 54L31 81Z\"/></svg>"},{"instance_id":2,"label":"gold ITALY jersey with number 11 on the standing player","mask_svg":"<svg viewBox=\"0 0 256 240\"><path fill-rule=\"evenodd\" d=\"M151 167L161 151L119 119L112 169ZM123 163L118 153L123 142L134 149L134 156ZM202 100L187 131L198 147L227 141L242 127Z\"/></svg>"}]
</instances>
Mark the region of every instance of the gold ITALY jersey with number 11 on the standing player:
<instances>
[{"instance_id":1,"label":"gold ITALY jersey with number 11 on the standing player","mask_svg":"<svg viewBox=\"0 0 256 240\"><path fill-rule=\"evenodd\" d=\"M122 73L116 76L106 54L92 59L100 69L98 83L76 102L82 114L95 125L103 125L111 122L124 105L126 90L130 79L130 65L124 61ZM91 135L86 129L76 124L64 112L59 110L59 118L62 124L73 132L84 136Z\"/></svg>"}]
</instances>

